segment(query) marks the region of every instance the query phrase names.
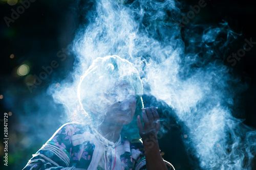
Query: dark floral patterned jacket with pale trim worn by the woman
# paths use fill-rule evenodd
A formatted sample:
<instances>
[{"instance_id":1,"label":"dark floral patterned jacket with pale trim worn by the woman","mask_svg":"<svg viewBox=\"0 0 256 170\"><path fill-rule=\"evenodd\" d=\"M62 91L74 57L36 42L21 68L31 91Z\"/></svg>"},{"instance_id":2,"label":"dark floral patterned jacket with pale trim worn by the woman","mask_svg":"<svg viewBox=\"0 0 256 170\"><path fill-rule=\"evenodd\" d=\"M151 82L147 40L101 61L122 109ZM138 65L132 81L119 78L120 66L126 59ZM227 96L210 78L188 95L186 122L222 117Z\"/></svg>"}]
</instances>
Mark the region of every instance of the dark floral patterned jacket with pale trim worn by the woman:
<instances>
[{"instance_id":1,"label":"dark floral patterned jacket with pale trim worn by the woman","mask_svg":"<svg viewBox=\"0 0 256 170\"><path fill-rule=\"evenodd\" d=\"M82 169L146 169L142 143L130 143L122 138L113 148L108 168L104 144L90 126L68 123L61 126L41 149L33 154L24 170L82 170ZM113 158L113 159L112 159ZM166 162L168 169L174 169Z\"/></svg>"}]
</instances>

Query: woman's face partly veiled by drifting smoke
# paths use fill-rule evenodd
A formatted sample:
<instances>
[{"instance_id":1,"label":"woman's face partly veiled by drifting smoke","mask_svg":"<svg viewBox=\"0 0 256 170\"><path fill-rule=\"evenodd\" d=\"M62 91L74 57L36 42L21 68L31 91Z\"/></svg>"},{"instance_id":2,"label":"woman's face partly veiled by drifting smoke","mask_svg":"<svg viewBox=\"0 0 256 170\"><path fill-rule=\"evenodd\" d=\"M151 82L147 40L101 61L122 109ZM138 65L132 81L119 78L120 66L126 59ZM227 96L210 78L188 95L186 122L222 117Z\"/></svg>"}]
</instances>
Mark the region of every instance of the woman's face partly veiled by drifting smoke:
<instances>
[{"instance_id":1,"label":"woman's face partly veiled by drifting smoke","mask_svg":"<svg viewBox=\"0 0 256 170\"><path fill-rule=\"evenodd\" d=\"M134 116L136 96L134 88L128 83L116 83L105 93L108 104L105 107L105 121L112 124L127 125Z\"/></svg>"}]
</instances>

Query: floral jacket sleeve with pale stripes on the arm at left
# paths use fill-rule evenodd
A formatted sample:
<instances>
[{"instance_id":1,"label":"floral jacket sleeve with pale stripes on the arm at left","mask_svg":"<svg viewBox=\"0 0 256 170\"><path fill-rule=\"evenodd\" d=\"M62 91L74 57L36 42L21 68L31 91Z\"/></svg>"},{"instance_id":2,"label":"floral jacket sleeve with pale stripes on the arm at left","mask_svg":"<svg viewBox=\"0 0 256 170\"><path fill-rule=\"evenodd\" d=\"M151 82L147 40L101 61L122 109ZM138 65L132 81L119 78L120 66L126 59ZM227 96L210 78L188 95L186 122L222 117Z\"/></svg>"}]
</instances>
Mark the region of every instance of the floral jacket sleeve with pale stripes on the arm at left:
<instances>
[{"instance_id":1,"label":"floral jacket sleeve with pale stripes on the arm at left","mask_svg":"<svg viewBox=\"0 0 256 170\"><path fill-rule=\"evenodd\" d=\"M61 126L42 147L33 154L23 170L72 170L69 167L72 152L72 136L76 127L72 124Z\"/></svg>"}]
</instances>

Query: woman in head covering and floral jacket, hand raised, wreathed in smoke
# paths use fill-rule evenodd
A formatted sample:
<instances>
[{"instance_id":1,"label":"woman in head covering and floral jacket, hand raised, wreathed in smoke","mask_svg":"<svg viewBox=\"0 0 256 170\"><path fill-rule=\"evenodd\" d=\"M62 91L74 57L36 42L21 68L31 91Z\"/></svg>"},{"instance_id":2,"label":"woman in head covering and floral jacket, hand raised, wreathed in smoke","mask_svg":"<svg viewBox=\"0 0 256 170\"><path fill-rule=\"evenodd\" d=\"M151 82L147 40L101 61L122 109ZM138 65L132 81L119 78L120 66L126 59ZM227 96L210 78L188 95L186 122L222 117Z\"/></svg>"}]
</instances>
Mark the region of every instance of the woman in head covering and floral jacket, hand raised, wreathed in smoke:
<instances>
[{"instance_id":1,"label":"woman in head covering and floral jacket, hand raised, wreathed in smoke","mask_svg":"<svg viewBox=\"0 0 256 170\"><path fill-rule=\"evenodd\" d=\"M129 61L95 59L77 89L82 123L61 126L24 169L174 169L159 152L156 107L141 109L142 89Z\"/></svg>"}]
</instances>

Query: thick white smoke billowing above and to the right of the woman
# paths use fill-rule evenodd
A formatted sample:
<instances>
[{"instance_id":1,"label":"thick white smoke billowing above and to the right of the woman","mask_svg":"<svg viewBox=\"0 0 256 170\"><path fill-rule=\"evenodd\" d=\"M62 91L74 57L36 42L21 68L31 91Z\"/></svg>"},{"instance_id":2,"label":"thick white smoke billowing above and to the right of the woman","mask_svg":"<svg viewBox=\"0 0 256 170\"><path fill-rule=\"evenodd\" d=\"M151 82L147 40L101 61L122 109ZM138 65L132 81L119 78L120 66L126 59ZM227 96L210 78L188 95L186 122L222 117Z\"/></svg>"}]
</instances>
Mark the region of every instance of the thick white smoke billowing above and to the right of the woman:
<instances>
[{"instance_id":1,"label":"thick white smoke billowing above and to the right of the woman","mask_svg":"<svg viewBox=\"0 0 256 170\"><path fill-rule=\"evenodd\" d=\"M79 79L92 61L118 55L135 64L149 87L145 94L175 109L189 130L187 148L195 149L202 169L251 169L256 132L232 117L233 90L243 86L222 62L235 37L227 23L190 23L182 35L176 23L181 16L178 2L102 0L95 6L87 16L90 23L74 40L73 80L63 81L58 91L49 88L55 101L72 114Z\"/></svg>"}]
</instances>

